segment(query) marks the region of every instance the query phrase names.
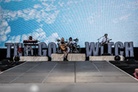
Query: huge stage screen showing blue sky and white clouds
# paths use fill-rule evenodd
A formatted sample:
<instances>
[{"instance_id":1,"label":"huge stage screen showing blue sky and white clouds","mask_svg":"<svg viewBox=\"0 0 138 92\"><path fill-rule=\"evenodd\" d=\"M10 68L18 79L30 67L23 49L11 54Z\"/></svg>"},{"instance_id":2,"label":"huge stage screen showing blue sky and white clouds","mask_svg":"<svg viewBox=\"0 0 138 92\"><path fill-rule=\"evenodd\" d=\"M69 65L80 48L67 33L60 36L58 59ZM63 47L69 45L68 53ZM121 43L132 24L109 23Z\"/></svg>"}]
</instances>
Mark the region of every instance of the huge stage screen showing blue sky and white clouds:
<instances>
[{"instance_id":1,"label":"huge stage screen showing blue sky and white clouds","mask_svg":"<svg viewBox=\"0 0 138 92\"><path fill-rule=\"evenodd\" d=\"M105 33L138 47L138 0L0 0L1 48L30 35L47 44L78 38L83 48Z\"/></svg>"}]
</instances>

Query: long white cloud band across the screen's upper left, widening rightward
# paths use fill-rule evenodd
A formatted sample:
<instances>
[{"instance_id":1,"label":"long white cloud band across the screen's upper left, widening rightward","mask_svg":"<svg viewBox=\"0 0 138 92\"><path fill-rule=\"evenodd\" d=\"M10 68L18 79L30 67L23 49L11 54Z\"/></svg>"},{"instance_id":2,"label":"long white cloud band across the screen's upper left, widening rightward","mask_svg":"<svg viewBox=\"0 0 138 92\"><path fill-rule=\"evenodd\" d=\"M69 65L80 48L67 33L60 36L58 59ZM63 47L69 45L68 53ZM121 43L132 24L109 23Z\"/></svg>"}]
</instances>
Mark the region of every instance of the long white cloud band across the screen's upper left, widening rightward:
<instances>
[{"instance_id":1,"label":"long white cloud band across the screen's upper left, widening rightward","mask_svg":"<svg viewBox=\"0 0 138 92\"><path fill-rule=\"evenodd\" d=\"M35 4L34 8L26 8L23 10L10 11L4 10L0 7L3 19L12 21L15 19L23 18L24 20L37 20L37 22L44 21L47 24L51 24L55 21L59 10L53 4L47 4L43 2L42 4Z\"/></svg>"}]
</instances>

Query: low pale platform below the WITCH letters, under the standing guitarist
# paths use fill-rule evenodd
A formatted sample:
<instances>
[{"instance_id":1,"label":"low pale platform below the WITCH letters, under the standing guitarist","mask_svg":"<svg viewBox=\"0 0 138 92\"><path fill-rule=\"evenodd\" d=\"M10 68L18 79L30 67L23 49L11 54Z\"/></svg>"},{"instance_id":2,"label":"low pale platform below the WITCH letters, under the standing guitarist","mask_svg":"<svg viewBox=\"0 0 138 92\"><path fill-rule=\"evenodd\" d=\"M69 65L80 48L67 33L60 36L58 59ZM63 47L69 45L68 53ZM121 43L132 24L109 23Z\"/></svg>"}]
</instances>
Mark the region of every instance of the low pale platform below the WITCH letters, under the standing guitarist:
<instances>
[{"instance_id":1,"label":"low pale platform below the WITCH letters, under the standing guitarist","mask_svg":"<svg viewBox=\"0 0 138 92\"><path fill-rule=\"evenodd\" d=\"M115 61L115 56L89 56L89 61ZM124 56L119 61L124 61Z\"/></svg>"}]
</instances>

